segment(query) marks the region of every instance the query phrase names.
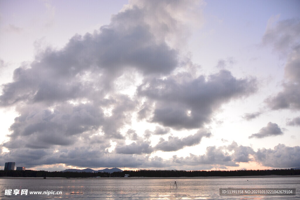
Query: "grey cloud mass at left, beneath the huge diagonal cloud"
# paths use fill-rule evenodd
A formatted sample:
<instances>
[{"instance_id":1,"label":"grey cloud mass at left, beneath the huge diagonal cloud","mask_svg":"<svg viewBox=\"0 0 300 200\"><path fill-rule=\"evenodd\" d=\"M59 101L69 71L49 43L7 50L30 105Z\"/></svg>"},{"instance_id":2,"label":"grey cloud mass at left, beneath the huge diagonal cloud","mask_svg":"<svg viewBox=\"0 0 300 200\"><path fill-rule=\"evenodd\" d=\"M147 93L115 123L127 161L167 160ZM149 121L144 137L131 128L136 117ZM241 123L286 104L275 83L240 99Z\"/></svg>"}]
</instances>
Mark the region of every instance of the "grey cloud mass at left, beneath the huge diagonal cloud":
<instances>
[{"instance_id":1,"label":"grey cloud mass at left, beneath the huge diagonal cloud","mask_svg":"<svg viewBox=\"0 0 300 200\"><path fill-rule=\"evenodd\" d=\"M94 132L103 122L103 113L91 104L62 104L53 111L28 106L15 118L10 127L10 140L4 146L11 149L71 145L81 133Z\"/></svg>"}]
</instances>

